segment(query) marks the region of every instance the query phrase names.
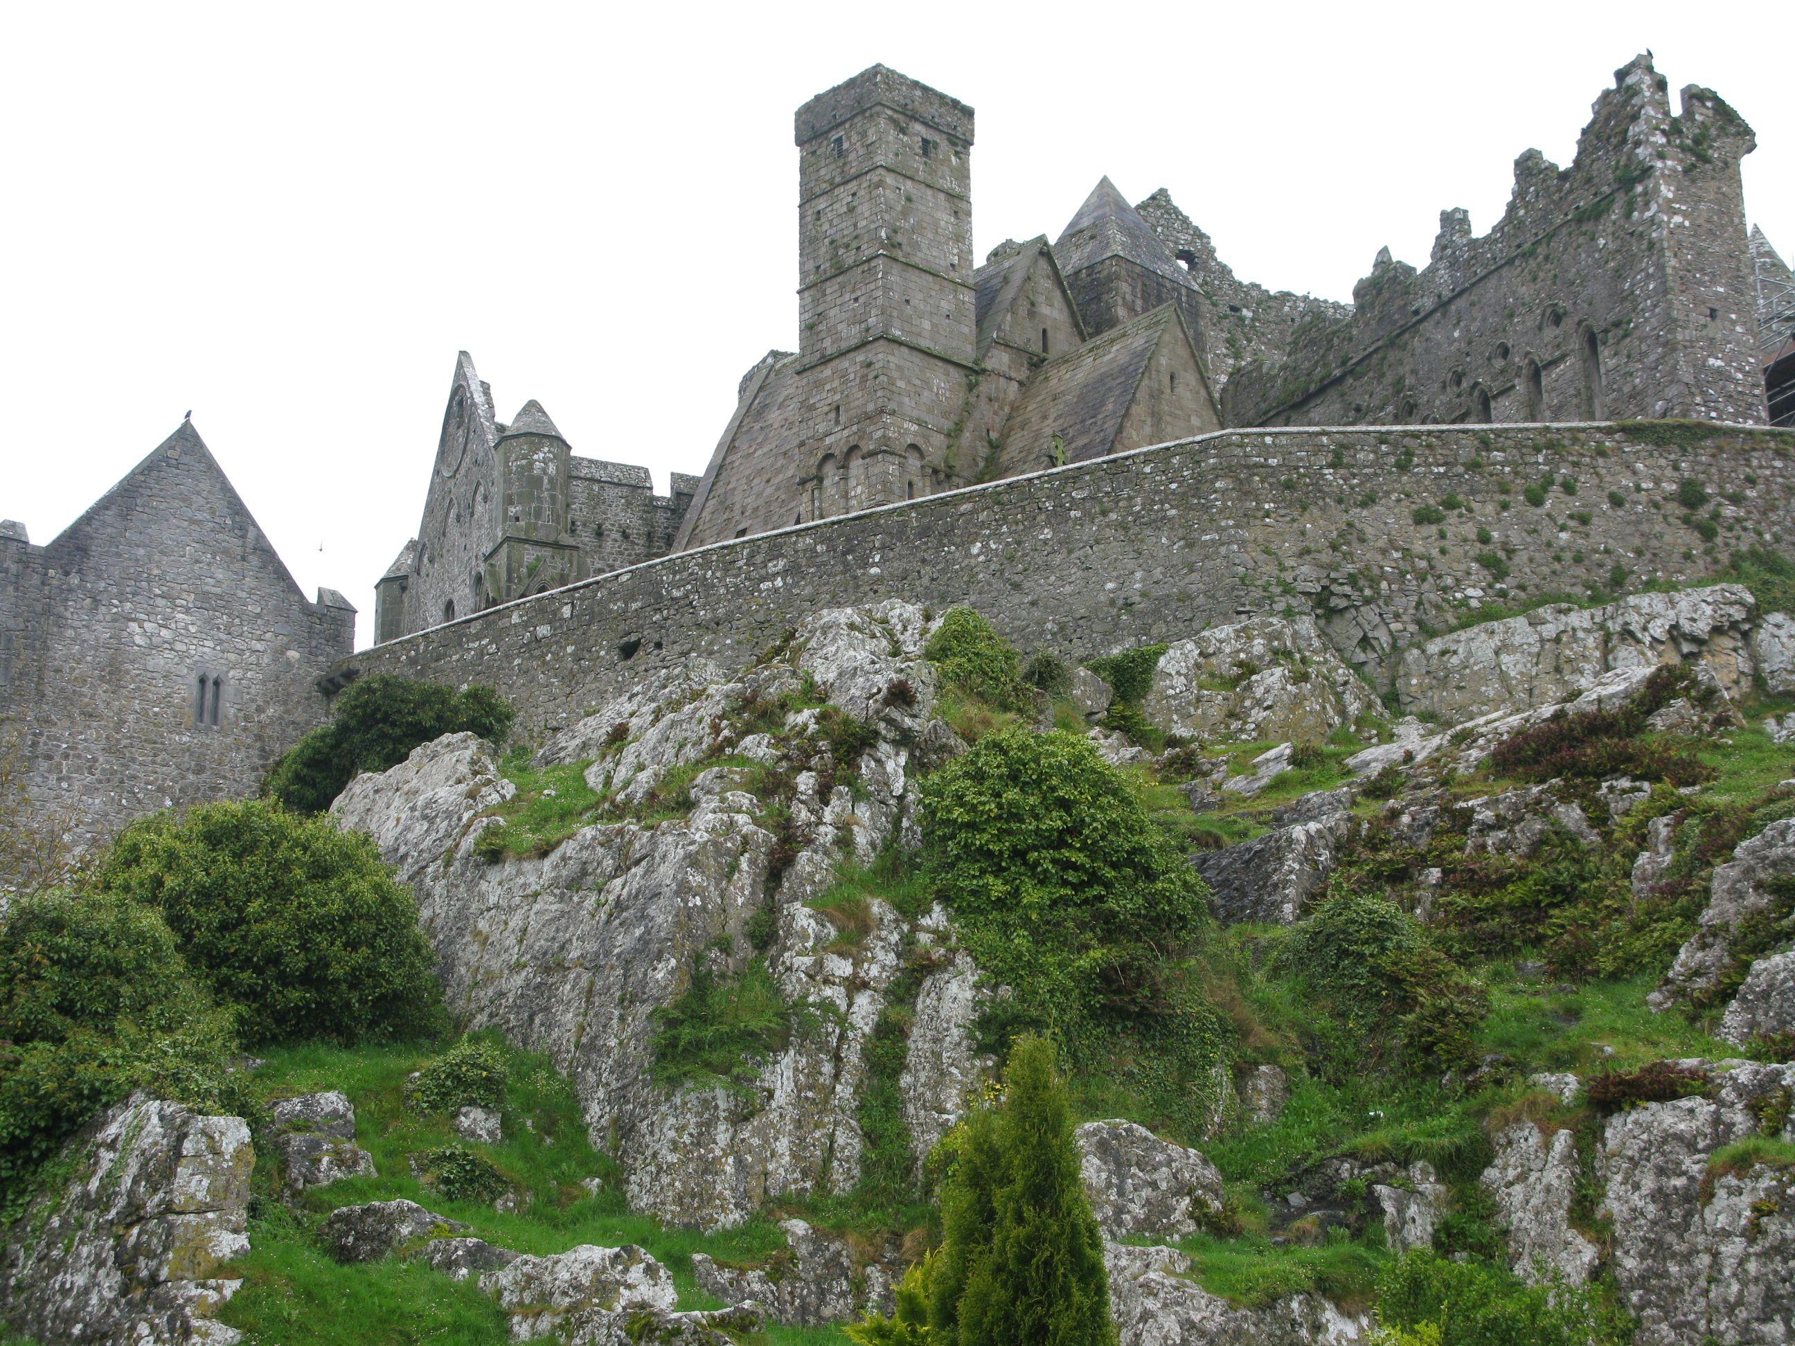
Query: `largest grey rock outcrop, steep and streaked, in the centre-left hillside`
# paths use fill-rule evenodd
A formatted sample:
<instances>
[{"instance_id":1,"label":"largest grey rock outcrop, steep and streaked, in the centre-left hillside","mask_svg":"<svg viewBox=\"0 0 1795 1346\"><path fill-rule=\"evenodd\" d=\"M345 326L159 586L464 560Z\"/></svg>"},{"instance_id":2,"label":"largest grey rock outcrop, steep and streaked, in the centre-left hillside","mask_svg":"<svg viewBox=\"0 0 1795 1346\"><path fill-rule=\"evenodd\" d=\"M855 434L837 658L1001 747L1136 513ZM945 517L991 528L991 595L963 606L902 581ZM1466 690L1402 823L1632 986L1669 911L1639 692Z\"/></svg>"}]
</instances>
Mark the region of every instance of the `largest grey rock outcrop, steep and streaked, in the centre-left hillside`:
<instances>
[{"instance_id":1,"label":"largest grey rock outcrop, steep and streaked, in the centre-left hillside","mask_svg":"<svg viewBox=\"0 0 1795 1346\"><path fill-rule=\"evenodd\" d=\"M899 971L903 921L872 903L871 933L849 946L806 903L844 858L871 863L887 838L917 840L914 763L957 748L932 716L928 634L921 610L903 603L822 612L741 677L698 686L714 669L664 675L540 754L596 754L587 779L616 791L625 811L680 766L722 754L756 763L702 770L686 786L686 817L625 817L547 854L490 861L479 838L501 826L488 815L512 788L467 736L359 777L336 802L337 824L372 835L413 885L451 1009L555 1059L592 1136L616 1145L635 1210L709 1229L741 1222L770 1197L858 1179L863 1050ZM793 693L865 725L858 759L835 759L819 711L781 709ZM788 782L779 799L743 788L765 793L768 779ZM747 931L763 910L772 942L757 953ZM686 991L700 958L731 976L754 957L788 1001L813 1007L801 1030L749 1088L659 1084L655 1010ZM969 969L957 976L937 983L937 1000L964 1001ZM937 1062L960 1052L946 1027L919 1043L906 1089L917 1113L955 1114L960 1080L939 1079Z\"/></svg>"}]
</instances>

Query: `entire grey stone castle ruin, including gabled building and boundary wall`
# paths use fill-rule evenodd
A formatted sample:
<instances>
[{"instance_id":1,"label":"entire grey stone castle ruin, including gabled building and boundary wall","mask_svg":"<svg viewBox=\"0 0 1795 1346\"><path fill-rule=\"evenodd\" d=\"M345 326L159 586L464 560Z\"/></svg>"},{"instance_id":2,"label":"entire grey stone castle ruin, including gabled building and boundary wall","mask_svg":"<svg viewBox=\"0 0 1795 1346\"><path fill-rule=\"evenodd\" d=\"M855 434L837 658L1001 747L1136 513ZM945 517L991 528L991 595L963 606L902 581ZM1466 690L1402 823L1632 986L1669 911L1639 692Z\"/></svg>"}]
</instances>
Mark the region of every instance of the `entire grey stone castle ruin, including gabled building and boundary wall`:
<instances>
[{"instance_id":1,"label":"entire grey stone castle ruin, including gabled building and boundary wall","mask_svg":"<svg viewBox=\"0 0 1795 1346\"><path fill-rule=\"evenodd\" d=\"M564 723L881 596L971 599L1079 659L1309 608L1382 677L1520 585L1711 574L1712 538L1646 510L1666 483L1729 492L1729 544L1795 528L1768 429L1795 424L1795 284L1747 232L1752 131L1703 88L1673 111L1648 57L1571 167L1528 151L1488 233L1443 212L1429 264L1380 253L1352 307L1239 280L1165 190L1129 205L1109 179L1057 240L976 264L973 109L885 66L806 102L795 142L799 350L749 370L702 477L655 495L535 402L501 422L463 354L361 655L192 425L48 546L0 528L0 718L34 791L109 826L244 793L377 669L494 682L530 727ZM1481 553L1501 567L1411 526L1423 495L1553 470L1603 490L1551 531L1502 515Z\"/></svg>"}]
</instances>

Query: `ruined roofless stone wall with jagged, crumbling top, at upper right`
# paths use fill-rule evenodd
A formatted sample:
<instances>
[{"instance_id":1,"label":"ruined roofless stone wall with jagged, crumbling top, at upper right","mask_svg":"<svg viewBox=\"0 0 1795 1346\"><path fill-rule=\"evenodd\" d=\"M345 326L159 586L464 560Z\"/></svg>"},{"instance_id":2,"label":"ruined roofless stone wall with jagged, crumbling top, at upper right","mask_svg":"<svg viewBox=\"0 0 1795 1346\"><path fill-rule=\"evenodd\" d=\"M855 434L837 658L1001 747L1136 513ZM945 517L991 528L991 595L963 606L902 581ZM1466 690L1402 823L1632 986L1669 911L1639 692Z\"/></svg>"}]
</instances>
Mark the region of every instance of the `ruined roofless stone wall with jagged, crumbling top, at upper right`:
<instances>
[{"instance_id":1,"label":"ruined roofless stone wall with jagged, crumbling top, at upper right","mask_svg":"<svg viewBox=\"0 0 1795 1346\"><path fill-rule=\"evenodd\" d=\"M1230 425L1694 416L1763 424L1739 158L1718 95L1671 115L1644 56L1594 104L1576 162L1515 162L1495 228L1441 212L1431 264L1379 253L1353 314L1228 380Z\"/></svg>"}]
</instances>

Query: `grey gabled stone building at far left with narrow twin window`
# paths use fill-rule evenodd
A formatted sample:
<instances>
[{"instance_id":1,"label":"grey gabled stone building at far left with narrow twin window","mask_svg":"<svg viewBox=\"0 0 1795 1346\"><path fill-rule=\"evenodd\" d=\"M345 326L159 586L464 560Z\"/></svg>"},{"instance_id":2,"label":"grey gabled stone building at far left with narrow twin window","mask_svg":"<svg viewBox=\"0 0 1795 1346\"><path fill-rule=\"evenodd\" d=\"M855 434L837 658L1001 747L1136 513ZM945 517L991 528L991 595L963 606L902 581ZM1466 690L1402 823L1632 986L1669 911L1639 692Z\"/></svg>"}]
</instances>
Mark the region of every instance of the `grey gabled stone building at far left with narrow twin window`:
<instances>
[{"instance_id":1,"label":"grey gabled stone building at far left with narrow twin window","mask_svg":"<svg viewBox=\"0 0 1795 1346\"><path fill-rule=\"evenodd\" d=\"M0 734L79 842L250 795L325 718L318 678L354 623L328 589L305 601L183 424L48 546L0 540Z\"/></svg>"}]
</instances>

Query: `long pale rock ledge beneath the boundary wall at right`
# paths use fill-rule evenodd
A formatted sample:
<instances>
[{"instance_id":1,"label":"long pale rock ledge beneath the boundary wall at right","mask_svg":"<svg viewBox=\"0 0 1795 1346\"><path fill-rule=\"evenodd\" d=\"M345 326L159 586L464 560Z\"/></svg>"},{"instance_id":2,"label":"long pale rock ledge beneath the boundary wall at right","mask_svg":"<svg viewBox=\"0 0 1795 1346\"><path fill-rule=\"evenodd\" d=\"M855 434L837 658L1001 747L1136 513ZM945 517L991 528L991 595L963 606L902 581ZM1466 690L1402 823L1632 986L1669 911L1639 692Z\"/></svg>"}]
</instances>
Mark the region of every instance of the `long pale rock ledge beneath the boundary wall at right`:
<instances>
[{"instance_id":1,"label":"long pale rock ledge beneath the boundary wall at right","mask_svg":"<svg viewBox=\"0 0 1795 1346\"><path fill-rule=\"evenodd\" d=\"M1397 695L1407 712L1459 723L1490 711L1563 702L1619 668L1700 659L1729 695L1752 686L1752 617L1743 585L1630 594L1601 608L1553 603L1404 651Z\"/></svg>"}]
</instances>

